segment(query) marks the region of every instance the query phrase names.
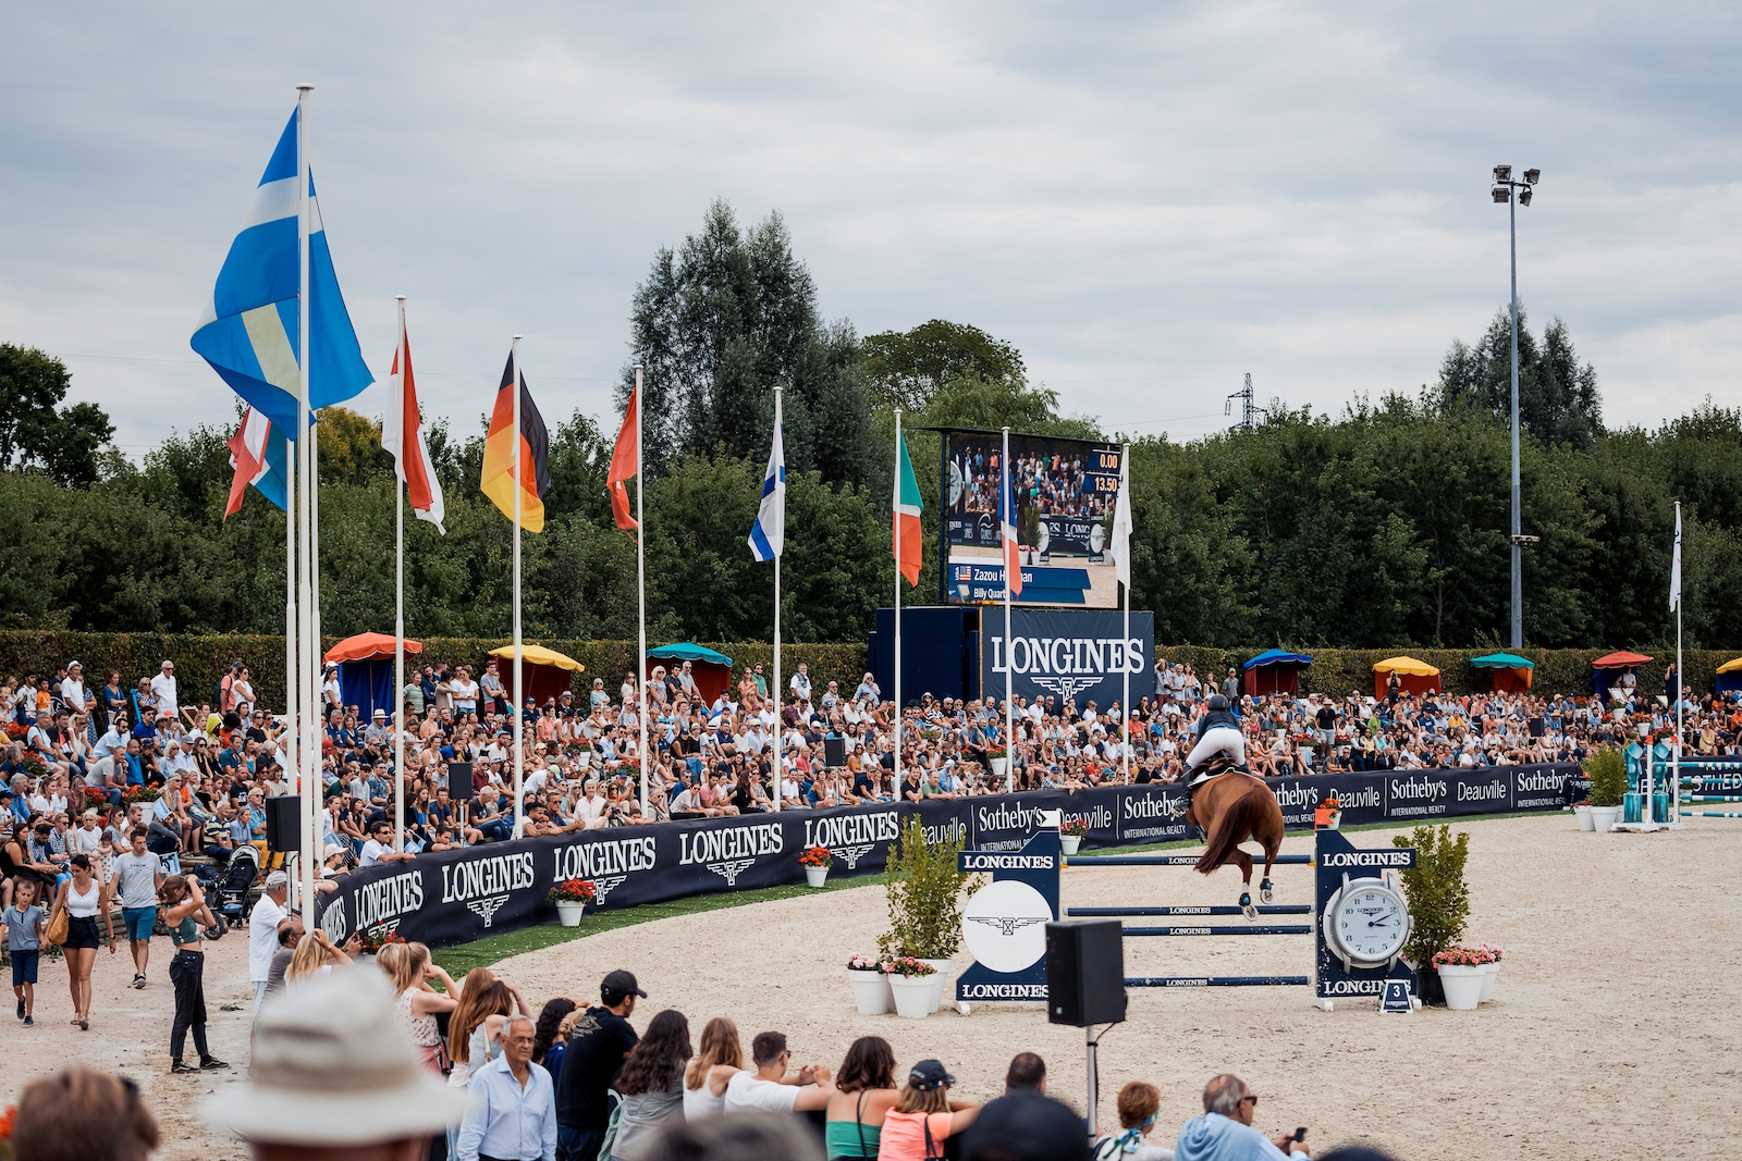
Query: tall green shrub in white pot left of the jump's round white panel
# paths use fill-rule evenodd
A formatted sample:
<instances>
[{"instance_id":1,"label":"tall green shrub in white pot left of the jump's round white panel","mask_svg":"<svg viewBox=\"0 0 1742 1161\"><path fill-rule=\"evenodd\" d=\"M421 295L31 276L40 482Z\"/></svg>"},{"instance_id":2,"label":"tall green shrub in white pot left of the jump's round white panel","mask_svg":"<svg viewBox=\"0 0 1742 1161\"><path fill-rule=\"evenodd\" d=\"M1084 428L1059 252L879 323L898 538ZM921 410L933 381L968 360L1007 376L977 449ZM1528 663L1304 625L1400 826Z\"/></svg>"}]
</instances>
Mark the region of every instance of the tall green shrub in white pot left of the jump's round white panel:
<instances>
[{"instance_id":1,"label":"tall green shrub in white pot left of the jump's round white panel","mask_svg":"<svg viewBox=\"0 0 1742 1161\"><path fill-rule=\"evenodd\" d=\"M928 841L920 816L909 815L883 870L890 926L878 936L878 952L885 959L922 959L932 966L934 1011L944 1003L949 957L962 947L962 889L977 881L956 869L965 846L963 832Z\"/></svg>"}]
</instances>

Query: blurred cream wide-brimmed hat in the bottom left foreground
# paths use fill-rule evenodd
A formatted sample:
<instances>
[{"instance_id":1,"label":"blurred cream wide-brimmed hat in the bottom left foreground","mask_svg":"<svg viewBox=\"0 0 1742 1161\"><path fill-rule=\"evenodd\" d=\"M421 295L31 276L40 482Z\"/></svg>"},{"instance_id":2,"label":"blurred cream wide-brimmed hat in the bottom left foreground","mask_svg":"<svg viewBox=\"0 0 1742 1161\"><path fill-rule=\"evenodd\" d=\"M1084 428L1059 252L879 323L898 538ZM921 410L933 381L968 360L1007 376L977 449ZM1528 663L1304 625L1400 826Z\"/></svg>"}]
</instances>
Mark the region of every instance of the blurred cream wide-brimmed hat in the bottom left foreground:
<instances>
[{"instance_id":1,"label":"blurred cream wide-brimmed hat in the bottom left foreground","mask_svg":"<svg viewBox=\"0 0 1742 1161\"><path fill-rule=\"evenodd\" d=\"M439 1133L467 1105L418 1060L387 980L340 968L261 1006L249 1079L202 1112L246 1140L369 1145Z\"/></svg>"}]
</instances>

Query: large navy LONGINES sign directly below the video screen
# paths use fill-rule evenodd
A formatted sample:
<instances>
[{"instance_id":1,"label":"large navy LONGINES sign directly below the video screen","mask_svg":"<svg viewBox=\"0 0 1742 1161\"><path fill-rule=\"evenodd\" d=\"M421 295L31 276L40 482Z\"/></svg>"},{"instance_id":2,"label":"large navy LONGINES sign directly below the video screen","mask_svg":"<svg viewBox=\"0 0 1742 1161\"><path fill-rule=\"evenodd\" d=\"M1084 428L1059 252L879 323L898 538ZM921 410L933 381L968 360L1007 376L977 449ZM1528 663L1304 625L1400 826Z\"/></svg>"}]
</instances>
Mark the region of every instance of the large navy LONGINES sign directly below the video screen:
<instances>
[{"instance_id":1,"label":"large navy LONGINES sign directly below the video screen","mask_svg":"<svg viewBox=\"0 0 1742 1161\"><path fill-rule=\"evenodd\" d=\"M981 696L1003 698L1003 607L981 613ZM1090 701L1106 710L1124 696L1131 674L1131 701L1155 693L1155 614L1131 614L1131 635L1118 611L1010 609L1012 693L1033 701L1050 696L1059 712L1071 698L1077 708Z\"/></svg>"}]
</instances>

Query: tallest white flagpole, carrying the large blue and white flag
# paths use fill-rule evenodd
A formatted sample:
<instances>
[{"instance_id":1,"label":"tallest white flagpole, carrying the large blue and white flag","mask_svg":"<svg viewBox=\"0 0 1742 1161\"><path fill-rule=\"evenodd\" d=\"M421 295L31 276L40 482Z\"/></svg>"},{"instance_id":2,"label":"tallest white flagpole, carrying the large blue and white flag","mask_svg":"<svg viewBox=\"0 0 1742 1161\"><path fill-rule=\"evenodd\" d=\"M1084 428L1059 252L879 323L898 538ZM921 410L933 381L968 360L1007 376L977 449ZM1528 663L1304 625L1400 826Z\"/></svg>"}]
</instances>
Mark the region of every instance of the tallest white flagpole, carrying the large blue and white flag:
<instances>
[{"instance_id":1,"label":"tallest white flagpole, carrying the large blue and white flag","mask_svg":"<svg viewBox=\"0 0 1742 1161\"><path fill-rule=\"evenodd\" d=\"M298 527L301 538L301 552L296 554L296 630L298 630L298 658L296 658L296 675L301 684L298 696L298 721L296 728L301 731L301 903L303 903L303 928L308 931L315 929L315 882L314 882L314 815L315 815L315 782L321 773L321 745L315 735L315 689L314 689L314 651L310 651L310 637L314 634L314 601L312 601L312 578L310 578L310 526L314 512L314 432L308 428L308 94L314 85L296 85L296 265L298 265L298 285L296 285L296 336L298 336L298 367L296 367L296 487L301 493L298 508L301 510L303 520ZM289 773L289 771L286 771Z\"/></svg>"}]
</instances>

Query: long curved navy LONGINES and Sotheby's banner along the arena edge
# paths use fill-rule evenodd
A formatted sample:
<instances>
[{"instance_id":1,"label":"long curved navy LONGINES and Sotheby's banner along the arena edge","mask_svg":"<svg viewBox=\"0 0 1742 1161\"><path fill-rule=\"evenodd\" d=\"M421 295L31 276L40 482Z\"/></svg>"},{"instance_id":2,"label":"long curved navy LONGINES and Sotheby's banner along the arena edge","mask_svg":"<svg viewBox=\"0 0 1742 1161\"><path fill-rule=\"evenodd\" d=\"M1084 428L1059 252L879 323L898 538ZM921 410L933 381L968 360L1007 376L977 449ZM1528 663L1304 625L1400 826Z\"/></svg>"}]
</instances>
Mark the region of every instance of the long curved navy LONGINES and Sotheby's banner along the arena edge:
<instances>
[{"instance_id":1,"label":"long curved navy LONGINES and Sotheby's banner along the arena edge","mask_svg":"<svg viewBox=\"0 0 1742 1161\"><path fill-rule=\"evenodd\" d=\"M1310 829L1313 808L1333 790L1347 823L1413 823L1563 809L1573 801L1577 776L1577 766L1491 766L1272 778L1270 789L1287 825ZM408 867L359 870L321 898L321 926L334 942L352 931L390 929L434 947L467 943L554 921L545 891L563 879L591 879L598 907L615 910L803 882L798 856L810 846L834 853L833 876L864 876L883 870L890 844L915 813L932 837L1014 851L1050 809L1089 823L1085 846L1192 837L1185 790L1164 783L709 818L493 842L422 855Z\"/></svg>"}]
</instances>

